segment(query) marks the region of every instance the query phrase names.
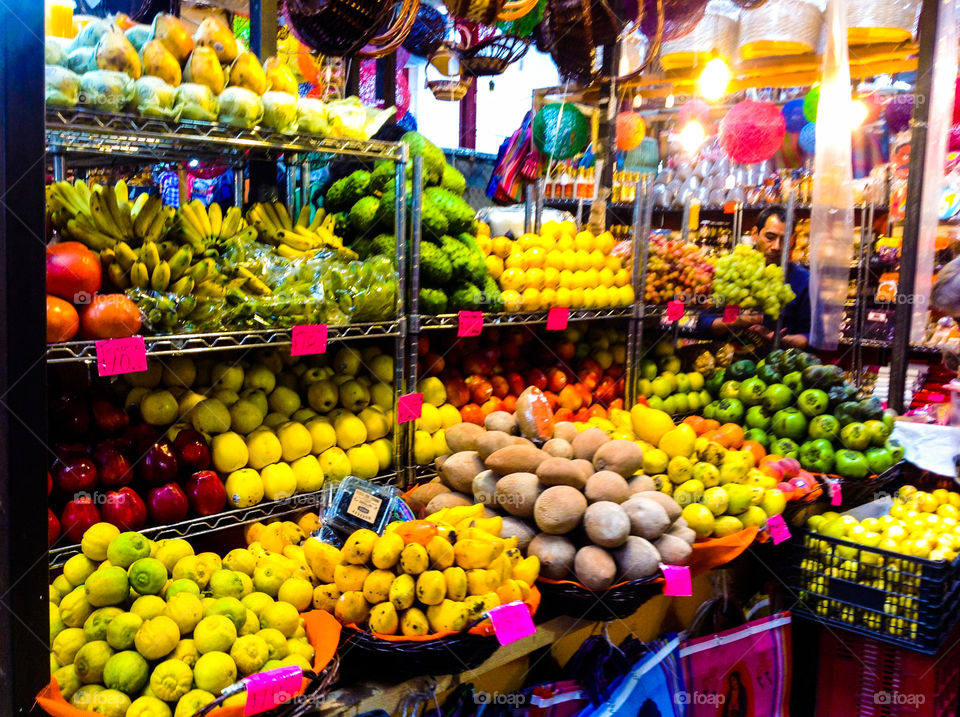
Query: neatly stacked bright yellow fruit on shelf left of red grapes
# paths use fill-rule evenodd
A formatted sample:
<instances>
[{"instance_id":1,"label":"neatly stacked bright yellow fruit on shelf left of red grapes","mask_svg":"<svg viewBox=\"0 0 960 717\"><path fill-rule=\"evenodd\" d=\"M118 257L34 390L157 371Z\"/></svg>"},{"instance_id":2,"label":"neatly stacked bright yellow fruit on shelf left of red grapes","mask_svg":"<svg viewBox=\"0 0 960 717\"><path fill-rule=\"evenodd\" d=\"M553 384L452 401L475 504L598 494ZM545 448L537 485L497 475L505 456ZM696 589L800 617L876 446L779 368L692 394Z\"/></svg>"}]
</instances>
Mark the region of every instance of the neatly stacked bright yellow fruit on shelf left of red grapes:
<instances>
[{"instance_id":1,"label":"neatly stacked bright yellow fruit on shelf left of red grapes","mask_svg":"<svg viewBox=\"0 0 960 717\"><path fill-rule=\"evenodd\" d=\"M610 232L577 232L573 222L546 222L540 234L481 237L487 269L496 279L506 311L553 306L603 309L629 306L634 293L629 262L613 253Z\"/></svg>"}]
</instances>

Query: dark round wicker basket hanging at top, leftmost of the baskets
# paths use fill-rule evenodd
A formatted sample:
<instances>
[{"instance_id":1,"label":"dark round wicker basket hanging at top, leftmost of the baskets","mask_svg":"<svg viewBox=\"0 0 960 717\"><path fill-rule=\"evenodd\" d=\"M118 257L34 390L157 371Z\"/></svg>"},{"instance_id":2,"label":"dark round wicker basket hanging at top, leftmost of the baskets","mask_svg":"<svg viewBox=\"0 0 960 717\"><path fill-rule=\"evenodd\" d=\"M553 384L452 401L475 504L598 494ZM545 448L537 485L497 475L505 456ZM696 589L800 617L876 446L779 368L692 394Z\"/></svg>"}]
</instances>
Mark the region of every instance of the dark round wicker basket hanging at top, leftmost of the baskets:
<instances>
[{"instance_id":1,"label":"dark round wicker basket hanging at top, leftmost of the baskets","mask_svg":"<svg viewBox=\"0 0 960 717\"><path fill-rule=\"evenodd\" d=\"M300 42L336 57L363 48L383 27L394 3L380 0L285 0L290 30Z\"/></svg>"}]
</instances>

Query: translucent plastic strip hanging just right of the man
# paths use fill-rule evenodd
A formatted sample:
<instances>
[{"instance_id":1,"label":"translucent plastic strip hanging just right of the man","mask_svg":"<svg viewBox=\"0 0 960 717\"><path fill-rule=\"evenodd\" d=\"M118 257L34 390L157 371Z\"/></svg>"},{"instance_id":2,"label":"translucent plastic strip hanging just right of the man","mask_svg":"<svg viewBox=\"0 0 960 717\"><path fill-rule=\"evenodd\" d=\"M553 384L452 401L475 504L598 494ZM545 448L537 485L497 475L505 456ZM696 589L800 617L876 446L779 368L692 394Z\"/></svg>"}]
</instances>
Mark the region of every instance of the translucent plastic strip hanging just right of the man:
<instances>
[{"instance_id":1,"label":"translucent plastic strip hanging just right of the man","mask_svg":"<svg viewBox=\"0 0 960 717\"><path fill-rule=\"evenodd\" d=\"M853 258L850 67L847 64L849 0L830 0L825 13L827 46L817 110L810 214L810 286L814 287L810 343L837 348Z\"/></svg>"}]
</instances>

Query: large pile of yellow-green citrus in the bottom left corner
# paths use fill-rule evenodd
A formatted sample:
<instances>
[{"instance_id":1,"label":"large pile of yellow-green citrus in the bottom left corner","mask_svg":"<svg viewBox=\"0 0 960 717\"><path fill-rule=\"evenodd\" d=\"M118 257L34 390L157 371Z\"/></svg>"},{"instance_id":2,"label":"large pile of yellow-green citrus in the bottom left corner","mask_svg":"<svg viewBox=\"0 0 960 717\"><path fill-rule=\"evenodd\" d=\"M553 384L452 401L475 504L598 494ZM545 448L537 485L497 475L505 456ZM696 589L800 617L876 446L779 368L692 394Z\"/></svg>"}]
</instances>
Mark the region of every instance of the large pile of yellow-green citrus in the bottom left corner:
<instances>
[{"instance_id":1,"label":"large pile of yellow-green citrus in the bottom left corner","mask_svg":"<svg viewBox=\"0 0 960 717\"><path fill-rule=\"evenodd\" d=\"M298 546L283 548L289 557L252 545L221 559L97 523L81 548L50 586L50 670L74 707L190 717L243 676L312 669L300 617L312 573Z\"/></svg>"}]
</instances>

